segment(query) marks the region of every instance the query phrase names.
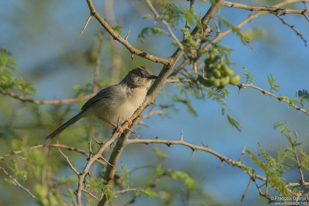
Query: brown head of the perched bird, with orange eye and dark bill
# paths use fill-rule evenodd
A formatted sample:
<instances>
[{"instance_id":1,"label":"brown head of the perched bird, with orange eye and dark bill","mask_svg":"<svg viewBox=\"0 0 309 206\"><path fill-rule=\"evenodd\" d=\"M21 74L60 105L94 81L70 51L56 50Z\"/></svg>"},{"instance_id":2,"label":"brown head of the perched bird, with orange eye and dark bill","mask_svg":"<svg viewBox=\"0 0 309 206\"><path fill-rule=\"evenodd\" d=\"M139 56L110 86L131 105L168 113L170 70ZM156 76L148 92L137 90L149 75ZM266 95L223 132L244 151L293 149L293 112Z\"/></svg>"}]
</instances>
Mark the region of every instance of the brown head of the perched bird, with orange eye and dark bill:
<instances>
[{"instance_id":1,"label":"brown head of the perched bird, with orange eye and dark bill","mask_svg":"<svg viewBox=\"0 0 309 206\"><path fill-rule=\"evenodd\" d=\"M153 75L150 69L145 66L140 66L138 68L132 69L122 80L126 82L128 86L131 87L149 87L152 79L159 79L157 76Z\"/></svg>"}]
</instances>

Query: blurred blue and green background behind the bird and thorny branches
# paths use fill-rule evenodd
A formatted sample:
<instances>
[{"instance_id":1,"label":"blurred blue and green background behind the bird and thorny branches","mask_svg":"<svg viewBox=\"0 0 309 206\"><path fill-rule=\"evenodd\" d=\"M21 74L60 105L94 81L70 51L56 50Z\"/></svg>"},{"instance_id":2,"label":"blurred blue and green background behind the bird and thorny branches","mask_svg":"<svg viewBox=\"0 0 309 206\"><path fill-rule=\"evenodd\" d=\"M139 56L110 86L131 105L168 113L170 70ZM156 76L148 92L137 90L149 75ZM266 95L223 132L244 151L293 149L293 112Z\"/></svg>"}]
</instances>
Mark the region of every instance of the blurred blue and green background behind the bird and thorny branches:
<instances>
[{"instance_id":1,"label":"blurred blue and green background behind the bird and thorny branches","mask_svg":"<svg viewBox=\"0 0 309 206\"><path fill-rule=\"evenodd\" d=\"M248 5L264 6L276 2L278 1L239 1ZM164 32L160 36L146 35L142 41L138 40L143 28L153 26L153 19L142 18L151 13L144 1L114 0L94 3L100 15L106 18L123 37L131 29L128 40L134 47L159 57L169 57L175 51L176 47L170 44L171 38ZM188 2L184 0L174 3L188 7ZM90 94L99 46L98 36L103 36L100 86L119 82L129 70L140 65L146 65L154 74L158 74L162 68L162 65L137 56L134 56L132 64L129 51L112 40L95 19L91 19L86 31L78 37L89 15L86 1L13 0L1 4L0 30L5 32L1 32L0 47L6 48L7 51L5 53L2 49L1 57L12 54L8 57L11 60L7 62L10 63L6 69L7 73L1 73L0 76L0 84L7 86L7 88L1 86L2 89L11 89L17 94L39 100L68 99ZM302 4L298 6L303 8ZM193 11L197 14L201 11L203 15L209 7L210 2L196 0ZM290 5L288 7L292 8ZM249 14L250 11L222 7L216 16L224 16L235 25ZM288 14L284 18L295 25L301 33L309 34L308 22L302 15ZM223 20L218 23L221 31L227 28L227 23ZM180 32L183 24L181 21L173 24L174 33L179 39L183 36ZM160 22L157 22L155 27L163 28ZM212 21L210 28L215 30ZM279 92L274 91L278 96L294 97L295 90L308 88L308 48L304 47L303 41L294 31L283 25L275 15L266 14L246 24L242 32L251 40L258 54L247 44L243 44L236 33L229 34L220 42L233 49L229 58L237 64L229 66L235 74L241 76L240 83L246 82L246 76L243 75L247 74L243 71L245 67L254 77L254 84L265 90L271 90L267 77L270 77L270 74L276 77L276 83L281 85ZM185 69L189 70L190 66L185 66ZM12 75L15 78L9 78L11 82L7 82L8 79L4 75L8 77ZM259 154L261 151L257 141L264 151L276 157L280 148L290 146L285 137L273 129L273 124L281 121L287 122L290 128L298 132L299 141L303 142L303 151L309 152L307 115L292 107L288 109L286 104L280 105L277 99L269 98L251 88L241 90L239 95L237 86L227 85L225 88L229 91L229 97L225 100L226 108L230 108L228 112L241 124L241 133L231 127L226 117L221 115L222 105L217 101L211 101L211 98L190 97L188 104L183 100L186 99L185 95L180 94L182 87L175 83L165 85L156 99L157 105L170 105L166 112L171 118L153 115L149 119L144 119L143 121L152 129L145 126L136 127L139 130L132 137L139 135L139 138L152 139L159 136L160 139L177 140L183 128L184 141L195 145L200 145L200 142L208 144L211 149L229 158L238 159L245 142L247 149L255 155ZM45 144L44 137L75 115L86 101L36 105L4 95L0 95L0 98L1 155L12 150L25 150L36 144ZM177 98L181 101L177 101ZM102 124L95 118L87 118L66 129L57 138L61 144L88 151L90 136L105 141L110 137L111 131L109 125ZM150 201L141 191L142 195L132 203L133 205L240 204L241 195L247 187L249 178L248 174L241 172L239 168L224 164L217 169L221 164L220 160L205 152L196 151L191 161L192 150L181 145L172 145L171 148L156 145L155 148L159 150L151 150L149 145L128 145L121 155L120 162L123 162L123 166L126 165L129 171L145 165L161 168L154 170L152 167L147 167L134 171L128 178L133 187L147 188L158 175L164 174L156 183L156 187L152 188L156 195L149 195L153 200ZM94 151L96 145L93 145L92 149ZM65 149L62 151L79 171L82 170L87 162L86 157L74 151ZM158 151L166 156L163 155L162 158ZM104 151L104 157L107 159L109 154L109 150ZM63 193L69 200L70 194L72 195L70 192L74 192L76 187L76 180L70 178L74 176L73 171L57 148L33 149L19 155L19 158L17 156L6 158L1 162L1 166L9 170L7 163L11 165L10 171L15 170L20 178L24 177L24 174L18 172L19 170L28 171L28 179L22 184L40 196L42 204L45 201L43 199L48 196L47 193L51 192L41 188L40 184L48 184L44 181L53 180L53 183L59 185L59 190L53 193L54 199L47 199L46 205L52 205ZM263 174L248 155L243 157L242 163ZM15 165L18 165L18 169ZM117 167L122 171L120 163ZM97 177L100 177L102 171L99 164L95 163L92 166L91 172ZM286 181L298 182L297 167L292 166L289 171L283 175ZM0 200L3 205L34 204L35 200L30 199L26 192L5 181L7 177L4 173L0 172L0 176L2 185ZM192 185L188 181L192 181ZM276 194L272 189L269 192ZM74 194L73 196L75 198ZM132 193L119 194L118 197L119 199L115 200L115 204L118 205L125 204L133 198ZM267 202L258 195L256 187L250 187L242 204L262 205Z\"/></svg>"}]
</instances>

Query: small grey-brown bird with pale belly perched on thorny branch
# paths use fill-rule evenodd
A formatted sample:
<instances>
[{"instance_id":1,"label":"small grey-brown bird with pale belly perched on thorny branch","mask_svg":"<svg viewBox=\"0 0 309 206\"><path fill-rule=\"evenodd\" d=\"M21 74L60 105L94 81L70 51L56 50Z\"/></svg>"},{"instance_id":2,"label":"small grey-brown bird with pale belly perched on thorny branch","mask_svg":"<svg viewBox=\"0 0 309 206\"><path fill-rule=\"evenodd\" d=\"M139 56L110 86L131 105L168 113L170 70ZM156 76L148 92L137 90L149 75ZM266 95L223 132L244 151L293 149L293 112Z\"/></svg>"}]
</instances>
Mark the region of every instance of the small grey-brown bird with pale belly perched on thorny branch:
<instances>
[{"instance_id":1,"label":"small grey-brown bird with pale belly perched on thorny branch","mask_svg":"<svg viewBox=\"0 0 309 206\"><path fill-rule=\"evenodd\" d=\"M112 125L117 130L116 132L119 132L118 137L120 137L123 132L121 128L123 124L119 126L115 123L127 121L129 126L132 124L130 117L144 102L147 88L153 79L159 78L153 75L145 65L132 69L118 84L100 90L83 105L81 112L62 124L45 139L55 137L71 124L88 116L96 116Z\"/></svg>"}]
</instances>

